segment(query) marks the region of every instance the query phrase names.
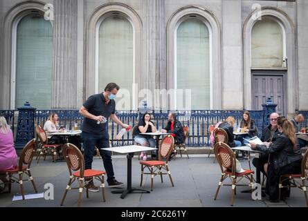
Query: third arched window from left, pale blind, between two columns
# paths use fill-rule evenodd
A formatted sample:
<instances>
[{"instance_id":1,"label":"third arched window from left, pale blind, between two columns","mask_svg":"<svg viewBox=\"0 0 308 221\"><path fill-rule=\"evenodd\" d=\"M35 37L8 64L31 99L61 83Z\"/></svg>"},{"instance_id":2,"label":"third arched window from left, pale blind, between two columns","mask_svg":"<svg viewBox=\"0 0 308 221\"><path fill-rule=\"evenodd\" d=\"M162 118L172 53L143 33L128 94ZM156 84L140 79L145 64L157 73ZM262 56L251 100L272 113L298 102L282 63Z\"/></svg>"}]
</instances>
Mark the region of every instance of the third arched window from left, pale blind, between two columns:
<instances>
[{"instance_id":1,"label":"third arched window from left, pale blind, between two columns","mask_svg":"<svg viewBox=\"0 0 308 221\"><path fill-rule=\"evenodd\" d=\"M189 17L176 30L176 108L187 108L191 90L193 110L210 108L210 35L206 23Z\"/></svg>"}]
</instances>

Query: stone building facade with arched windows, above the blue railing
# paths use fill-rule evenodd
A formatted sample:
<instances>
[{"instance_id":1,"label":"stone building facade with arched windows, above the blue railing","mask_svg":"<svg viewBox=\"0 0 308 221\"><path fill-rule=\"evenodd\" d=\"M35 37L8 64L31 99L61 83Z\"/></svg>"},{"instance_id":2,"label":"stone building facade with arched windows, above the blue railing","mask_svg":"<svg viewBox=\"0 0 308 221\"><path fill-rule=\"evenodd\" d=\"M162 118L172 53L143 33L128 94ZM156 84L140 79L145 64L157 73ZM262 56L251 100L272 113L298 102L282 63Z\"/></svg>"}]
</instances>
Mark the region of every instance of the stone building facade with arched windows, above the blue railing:
<instances>
[{"instance_id":1,"label":"stone building facade with arched windows, above the blue railing","mask_svg":"<svg viewBox=\"0 0 308 221\"><path fill-rule=\"evenodd\" d=\"M293 115L308 109L307 11L305 0L1 0L0 109L79 108L116 81L123 109L183 108L181 89L192 109L272 97Z\"/></svg>"}]
</instances>

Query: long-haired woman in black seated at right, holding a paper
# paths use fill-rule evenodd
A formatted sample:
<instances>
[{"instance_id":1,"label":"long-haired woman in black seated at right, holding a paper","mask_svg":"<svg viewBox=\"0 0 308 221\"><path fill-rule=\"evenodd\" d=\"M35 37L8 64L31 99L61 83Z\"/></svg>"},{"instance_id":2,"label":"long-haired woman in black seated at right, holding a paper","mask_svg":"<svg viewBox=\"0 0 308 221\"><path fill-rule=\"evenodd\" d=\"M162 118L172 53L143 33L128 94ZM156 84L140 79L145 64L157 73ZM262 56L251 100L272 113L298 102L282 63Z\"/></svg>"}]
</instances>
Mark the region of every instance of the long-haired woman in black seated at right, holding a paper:
<instances>
[{"instance_id":1,"label":"long-haired woman in black seated at right, holding a paper","mask_svg":"<svg viewBox=\"0 0 308 221\"><path fill-rule=\"evenodd\" d=\"M251 148L271 154L269 164L264 165L264 171L267 175L266 193L273 202L279 200L280 175L300 173L302 161L302 154L296 143L293 124L284 117L280 117L278 119L278 130L280 134L272 143L264 142L260 145L251 142ZM282 189L280 200L284 200L287 196L289 196L287 189Z\"/></svg>"}]
</instances>

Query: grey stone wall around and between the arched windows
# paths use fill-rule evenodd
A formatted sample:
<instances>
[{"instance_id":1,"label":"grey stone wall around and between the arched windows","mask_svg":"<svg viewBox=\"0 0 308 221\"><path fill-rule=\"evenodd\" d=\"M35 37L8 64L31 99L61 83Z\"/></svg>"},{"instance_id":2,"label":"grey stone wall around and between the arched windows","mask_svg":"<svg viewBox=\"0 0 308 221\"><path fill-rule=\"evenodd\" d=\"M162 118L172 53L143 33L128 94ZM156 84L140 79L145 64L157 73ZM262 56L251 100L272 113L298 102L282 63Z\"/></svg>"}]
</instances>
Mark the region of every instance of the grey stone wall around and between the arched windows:
<instances>
[{"instance_id":1,"label":"grey stone wall around and between the arched windows","mask_svg":"<svg viewBox=\"0 0 308 221\"><path fill-rule=\"evenodd\" d=\"M57 8L62 1L66 2L69 10ZM8 12L15 8L21 0L0 1L0 108L10 108L10 68L6 62L10 59L4 57L10 55L8 51L3 52L6 42L4 39L4 20ZM28 1L29 3L35 1ZM43 1L51 2L53 1ZM294 55L294 70L288 70L288 75L292 83L288 84L288 113L292 114L294 109L300 108L308 110L308 2L305 0L297 1L254 1L254 0L55 0L55 10L63 13L60 17L68 19L66 24L69 29L60 29L55 32L54 42L63 44L64 41L70 42L69 49L66 51L55 48L55 67L63 67L61 70L53 70L53 107L54 108L79 108L84 99L87 98L87 24L97 8L106 3L123 3L136 12L142 23L141 34L141 62L135 64L136 76L141 77L139 88L167 88L167 24L172 15L183 7L199 6L211 13L217 19L220 28L220 60L214 64L219 65L221 77L219 86L213 90L219 90L219 102L215 108L242 109L249 108L251 104L251 91L245 91L245 48L243 29L246 20L253 12L253 3L260 3L262 7L278 9L289 19L289 23L294 30L294 46L289 46ZM62 2L63 3L63 2ZM64 5L63 5L64 6ZM59 11L60 10L60 11ZM57 16L57 11L55 15ZM62 21L63 22L63 21ZM54 28L63 26L64 23L57 23L55 20ZM66 39L66 35L69 39ZM293 49L292 49L293 48ZM64 59L59 59L64 57ZM87 73L87 74L86 74ZM215 77L215 73L213 73ZM289 78L288 78L289 79ZM60 84L60 81L65 84ZM249 88L249 87L248 87ZM295 92L294 92L295 91ZM161 104L154 104L158 107Z\"/></svg>"}]
</instances>

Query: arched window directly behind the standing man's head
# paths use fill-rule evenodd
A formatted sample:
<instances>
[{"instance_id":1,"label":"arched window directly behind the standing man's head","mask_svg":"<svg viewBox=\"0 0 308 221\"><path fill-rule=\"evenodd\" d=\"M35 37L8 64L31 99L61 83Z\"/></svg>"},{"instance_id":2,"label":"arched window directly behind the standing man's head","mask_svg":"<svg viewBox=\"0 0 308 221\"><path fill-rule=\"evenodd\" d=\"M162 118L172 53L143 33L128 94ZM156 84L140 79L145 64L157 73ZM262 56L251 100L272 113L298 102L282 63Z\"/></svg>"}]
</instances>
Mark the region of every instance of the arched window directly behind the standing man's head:
<instances>
[{"instance_id":1,"label":"arched window directly behind the standing man's head","mask_svg":"<svg viewBox=\"0 0 308 221\"><path fill-rule=\"evenodd\" d=\"M132 108L134 29L126 17L114 14L103 18L98 29L97 93L115 82L120 86L117 109L125 110Z\"/></svg>"}]
</instances>

